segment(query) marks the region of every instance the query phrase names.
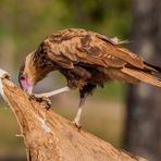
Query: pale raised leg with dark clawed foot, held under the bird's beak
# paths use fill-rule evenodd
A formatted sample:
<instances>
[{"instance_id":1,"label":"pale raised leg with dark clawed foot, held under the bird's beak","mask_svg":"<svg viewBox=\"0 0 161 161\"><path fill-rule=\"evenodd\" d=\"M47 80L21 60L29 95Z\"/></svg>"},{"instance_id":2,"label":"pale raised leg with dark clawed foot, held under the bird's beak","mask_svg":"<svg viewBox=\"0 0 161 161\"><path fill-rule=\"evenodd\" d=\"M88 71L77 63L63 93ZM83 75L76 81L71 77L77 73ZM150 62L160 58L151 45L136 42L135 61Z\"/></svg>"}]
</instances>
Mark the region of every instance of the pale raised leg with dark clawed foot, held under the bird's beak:
<instances>
[{"instance_id":1,"label":"pale raised leg with dark clawed foot, held under the bird's beak","mask_svg":"<svg viewBox=\"0 0 161 161\"><path fill-rule=\"evenodd\" d=\"M44 102L45 106L47 107L47 109L50 109L51 107L51 101L49 99L49 97L61 94L61 92L65 92L65 91L70 91L71 88L70 87L63 87L53 91L49 91L49 92L44 92L44 94L33 94L30 95L32 99L35 99L39 102Z\"/></svg>"}]
</instances>

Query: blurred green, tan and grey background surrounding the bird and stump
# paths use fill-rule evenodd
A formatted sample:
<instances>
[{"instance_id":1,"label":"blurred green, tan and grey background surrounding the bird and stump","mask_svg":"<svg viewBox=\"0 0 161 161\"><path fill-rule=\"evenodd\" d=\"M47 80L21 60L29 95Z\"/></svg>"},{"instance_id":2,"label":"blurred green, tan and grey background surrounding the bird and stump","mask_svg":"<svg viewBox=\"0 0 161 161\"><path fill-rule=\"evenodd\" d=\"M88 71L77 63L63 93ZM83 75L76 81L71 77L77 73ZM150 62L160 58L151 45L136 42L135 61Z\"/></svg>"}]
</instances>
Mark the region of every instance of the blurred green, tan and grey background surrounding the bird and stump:
<instances>
[{"instance_id":1,"label":"blurred green, tan and grey background surrounding the bird and stump","mask_svg":"<svg viewBox=\"0 0 161 161\"><path fill-rule=\"evenodd\" d=\"M78 27L108 37L128 39L125 45L146 61L161 66L160 0L1 0L0 67L17 74L25 55L48 35ZM18 84L17 84L18 85ZM65 85L51 73L39 83L37 92ZM161 160L161 89L147 84L109 83L88 97L82 117L83 128L135 154ZM78 92L52 98L53 110L73 120ZM0 102L0 161L25 161L23 139L11 110Z\"/></svg>"}]
</instances>

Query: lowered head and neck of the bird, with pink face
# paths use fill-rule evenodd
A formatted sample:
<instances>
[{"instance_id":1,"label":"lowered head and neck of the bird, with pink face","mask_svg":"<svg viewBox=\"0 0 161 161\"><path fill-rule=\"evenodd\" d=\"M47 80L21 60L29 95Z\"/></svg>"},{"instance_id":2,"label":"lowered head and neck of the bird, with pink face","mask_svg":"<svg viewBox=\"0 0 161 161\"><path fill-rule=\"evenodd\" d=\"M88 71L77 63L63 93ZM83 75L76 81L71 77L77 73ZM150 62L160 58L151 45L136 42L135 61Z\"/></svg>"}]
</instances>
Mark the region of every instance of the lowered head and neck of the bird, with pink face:
<instances>
[{"instance_id":1,"label":"lowered head and neck of the bird, with pink face","mask_svg":"<svg viewBox=\"0 0 161 161\"><path fill-rule=\"evenodd\" d=\"M32 94L36 83L45 78L49 72L55 70L52 62L40 49L38 48L36 51L29 53L20 70L20 85L28 94Z\"/></svg>"}]
</instances>

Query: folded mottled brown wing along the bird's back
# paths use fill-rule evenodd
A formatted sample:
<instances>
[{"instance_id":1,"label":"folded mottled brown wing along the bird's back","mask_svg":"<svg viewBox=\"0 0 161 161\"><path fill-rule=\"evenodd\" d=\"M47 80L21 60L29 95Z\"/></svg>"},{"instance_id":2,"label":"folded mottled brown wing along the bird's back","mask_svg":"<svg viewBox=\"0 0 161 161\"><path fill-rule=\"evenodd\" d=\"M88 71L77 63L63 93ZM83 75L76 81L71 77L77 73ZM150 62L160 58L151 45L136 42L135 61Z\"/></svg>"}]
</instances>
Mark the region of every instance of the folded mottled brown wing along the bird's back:
<instances>
[{"instance_id":1,"label":"folded mottled brown wing along the bird's back","mask_svg":"<svg viewBox=\"0 0 161 161\"><path fill-rule=\"evenodd\" d=\"M143 69L144 61L116 41L85 29L65 29L50 35L41 44L48 57L65 69L74 64Z\"/></svg>"}]
</instances>

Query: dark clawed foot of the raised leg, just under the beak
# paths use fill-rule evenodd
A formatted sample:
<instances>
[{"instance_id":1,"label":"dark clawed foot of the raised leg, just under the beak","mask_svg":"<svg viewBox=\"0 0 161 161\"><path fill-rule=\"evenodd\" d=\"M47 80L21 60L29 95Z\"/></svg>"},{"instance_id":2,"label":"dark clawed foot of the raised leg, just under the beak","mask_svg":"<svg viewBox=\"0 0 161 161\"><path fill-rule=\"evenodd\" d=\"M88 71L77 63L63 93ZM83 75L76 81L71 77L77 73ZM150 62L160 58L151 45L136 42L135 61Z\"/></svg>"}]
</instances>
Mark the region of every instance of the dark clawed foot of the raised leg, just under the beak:
<instances>
[{"instance_id":1,"label":"dark clawed foot of the raised leg, just under the beak","mask_svg":"<svg viewBox=\"0 0 161 161\"><path fill-rule=\"evenodd\" d=\"M34 99L46 107L47 110L51 108L51 100L48 97L37 97L35 95L30 95L29 99Z\"/></svg>"}]
</instances>

